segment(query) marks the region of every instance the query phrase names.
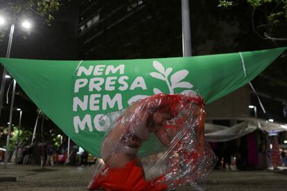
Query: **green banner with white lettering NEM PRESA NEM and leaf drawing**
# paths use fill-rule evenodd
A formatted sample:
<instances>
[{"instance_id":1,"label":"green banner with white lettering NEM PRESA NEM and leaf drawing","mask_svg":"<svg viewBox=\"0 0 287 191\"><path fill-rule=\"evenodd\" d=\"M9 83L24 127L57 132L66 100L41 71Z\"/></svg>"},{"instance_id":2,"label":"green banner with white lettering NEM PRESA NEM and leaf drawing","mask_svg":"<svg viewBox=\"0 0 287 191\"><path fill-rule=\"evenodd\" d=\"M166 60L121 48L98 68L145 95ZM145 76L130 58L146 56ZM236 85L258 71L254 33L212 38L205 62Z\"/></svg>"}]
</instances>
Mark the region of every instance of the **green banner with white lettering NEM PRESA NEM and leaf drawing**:
<instances>
[{"instance_id":1,"label":"green banner with white lettering NEM PRESA NEM and leaf drawing","mask_svg":"<svg viewBox=\"0 0 287 191\"><path fill-rule=\"evenodd\" d=\"M0 58L0 62L67 136L99 156L110 125L109 120L99 122L105 113L160 92L198 91L206 103L213 102L250 82L285 50L139 60ZM147 147L140 152L149 154Z\"/></svg>"}]
</instances>

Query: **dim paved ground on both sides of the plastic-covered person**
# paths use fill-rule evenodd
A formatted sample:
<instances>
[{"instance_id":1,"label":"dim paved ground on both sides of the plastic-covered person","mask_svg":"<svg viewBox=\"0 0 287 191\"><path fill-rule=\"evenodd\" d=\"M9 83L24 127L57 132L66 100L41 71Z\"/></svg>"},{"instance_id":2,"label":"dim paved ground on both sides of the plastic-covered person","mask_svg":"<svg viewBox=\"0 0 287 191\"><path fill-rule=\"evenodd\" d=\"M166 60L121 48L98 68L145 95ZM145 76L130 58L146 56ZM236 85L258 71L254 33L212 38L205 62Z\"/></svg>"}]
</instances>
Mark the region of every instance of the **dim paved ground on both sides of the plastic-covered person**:
<instances>
[{"instance_id":1,"label":"dim paved ground on both sides of the plastic-covered person","mask_svg":"<svg viewBox=\"0 0 287 191\"><path fill-rule=\"evenodd\" d=\"M95 167L46 167L42 172L40 166L0 165L1 177L15 176L16 182L0 182L0 190L86 190L92 179ZM203 185L205 190L287 190L287 170L281 171L213 171ZM193 190L184 186L177 190Z\"/></svg>"}]
</instances>

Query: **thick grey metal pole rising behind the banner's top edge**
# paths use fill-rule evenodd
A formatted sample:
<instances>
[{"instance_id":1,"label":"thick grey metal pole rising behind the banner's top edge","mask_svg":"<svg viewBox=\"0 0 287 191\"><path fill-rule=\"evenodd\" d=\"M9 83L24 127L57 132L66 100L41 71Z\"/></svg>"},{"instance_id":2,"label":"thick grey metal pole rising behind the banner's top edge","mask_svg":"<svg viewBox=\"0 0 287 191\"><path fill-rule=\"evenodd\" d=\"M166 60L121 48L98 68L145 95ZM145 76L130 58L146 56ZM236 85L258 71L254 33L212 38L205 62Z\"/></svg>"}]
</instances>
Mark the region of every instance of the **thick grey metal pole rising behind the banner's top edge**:
<instances>
[{"instance_id":1,"label":"thick grey metal pole rising behind the banner's top edge","mask_svg":"<svg viewBox=\"0 0 287 191\"><path fill-rule=\"evenodd\" d=\"M191 56L189 0L182 0L182 52L184 57Z\"/></svg>"}]
</instances>

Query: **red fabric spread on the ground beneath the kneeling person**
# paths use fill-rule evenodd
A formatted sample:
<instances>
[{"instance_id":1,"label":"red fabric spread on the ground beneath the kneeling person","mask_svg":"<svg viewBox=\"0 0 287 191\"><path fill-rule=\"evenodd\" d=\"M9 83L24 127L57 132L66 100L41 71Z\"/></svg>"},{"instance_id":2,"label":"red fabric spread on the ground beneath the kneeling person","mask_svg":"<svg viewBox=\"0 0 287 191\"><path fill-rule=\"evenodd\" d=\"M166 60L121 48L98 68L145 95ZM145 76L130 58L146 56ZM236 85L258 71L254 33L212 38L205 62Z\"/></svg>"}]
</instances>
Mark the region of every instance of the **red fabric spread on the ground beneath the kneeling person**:
<instances>
[{"instance_id":1,"label":"red fabric spread on the ground beneath the kneeling person","mask_svg":"<svg viewBox=\"0 0 287 191\"><path fill-rule=\"evenodd\" d=\"M105 190L164 190L167 185L159 183L155 179L153 182L146 181L143 177L142 167L136 166L135 159L127 163L125 167L109 169L104 166L100 173L94 176L93 182L89 185L89 190L105 188Z\"/></svg>"}]
</instances>

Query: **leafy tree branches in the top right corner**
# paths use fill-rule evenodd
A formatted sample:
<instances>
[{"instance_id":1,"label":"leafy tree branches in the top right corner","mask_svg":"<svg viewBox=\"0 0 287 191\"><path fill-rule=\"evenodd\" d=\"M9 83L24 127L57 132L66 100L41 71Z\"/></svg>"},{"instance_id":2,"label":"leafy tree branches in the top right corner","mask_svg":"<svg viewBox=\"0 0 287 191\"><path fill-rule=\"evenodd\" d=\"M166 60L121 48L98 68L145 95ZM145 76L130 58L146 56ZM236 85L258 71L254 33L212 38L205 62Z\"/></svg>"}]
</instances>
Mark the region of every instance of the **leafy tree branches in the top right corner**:
<instances>
[{"instance_id":1,"label":"leafy tree branches in the top right corner","mask_svg":"<svg viewBox=\"0 0 287 191\"><path fill-rule=\"evenodd\" d=\"M247 3L250 7L252 30L262 39L287 41L287 1L286 0L235 0L218 1L218 7L229 8Z\"/></svg>"}]
</instances>

